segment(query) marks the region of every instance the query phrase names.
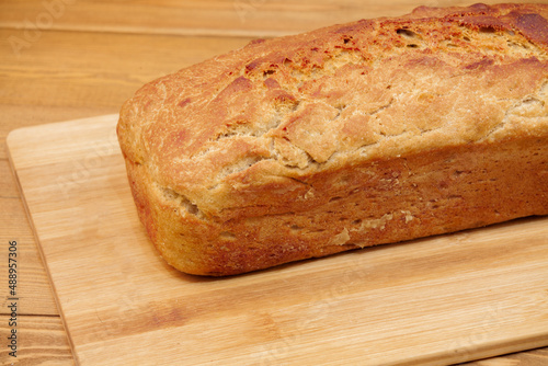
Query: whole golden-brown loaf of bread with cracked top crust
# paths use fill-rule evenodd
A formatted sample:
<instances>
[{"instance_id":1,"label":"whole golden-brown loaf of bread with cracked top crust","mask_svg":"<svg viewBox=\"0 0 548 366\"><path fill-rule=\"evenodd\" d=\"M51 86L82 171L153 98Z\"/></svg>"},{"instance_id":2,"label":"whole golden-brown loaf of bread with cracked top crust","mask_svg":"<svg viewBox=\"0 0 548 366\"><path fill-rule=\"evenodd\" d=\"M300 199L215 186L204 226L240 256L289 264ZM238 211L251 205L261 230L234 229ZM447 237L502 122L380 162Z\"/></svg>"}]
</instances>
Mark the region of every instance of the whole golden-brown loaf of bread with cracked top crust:
<instances>
[{"instance_id":1,"label":"whole golden-brown loaf of bread with cracked top crust","mask_svg":"<svg viewBox=\"0 0 548 366\"><path fill-rule=\"evenodd\" d=\"M117 126L140 220L232 275L548 214L548 5L419 8L258 39Z\"/></svg>"}]
</instances>

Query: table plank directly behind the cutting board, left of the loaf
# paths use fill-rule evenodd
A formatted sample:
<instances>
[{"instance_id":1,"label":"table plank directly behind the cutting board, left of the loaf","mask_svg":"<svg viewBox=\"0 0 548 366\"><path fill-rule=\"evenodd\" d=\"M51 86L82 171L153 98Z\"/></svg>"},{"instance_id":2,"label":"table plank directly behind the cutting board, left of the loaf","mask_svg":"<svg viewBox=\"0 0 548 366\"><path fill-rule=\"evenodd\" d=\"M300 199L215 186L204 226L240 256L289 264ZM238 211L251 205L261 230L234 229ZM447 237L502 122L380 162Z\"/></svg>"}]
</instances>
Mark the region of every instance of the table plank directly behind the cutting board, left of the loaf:
<instances>
[{"instance_id":1,"label":"table plank directly behind the cutting board, left of the loaf","mask_svg":"<svg viewBox=\"0 0 548 366\"><path fill-rule=\"evenodd\" d=\"M145 82L251 41L44 32L18 57L11 34L0 30L1 140L15 127L117 113Z\"/></svg>"}]
</instances>

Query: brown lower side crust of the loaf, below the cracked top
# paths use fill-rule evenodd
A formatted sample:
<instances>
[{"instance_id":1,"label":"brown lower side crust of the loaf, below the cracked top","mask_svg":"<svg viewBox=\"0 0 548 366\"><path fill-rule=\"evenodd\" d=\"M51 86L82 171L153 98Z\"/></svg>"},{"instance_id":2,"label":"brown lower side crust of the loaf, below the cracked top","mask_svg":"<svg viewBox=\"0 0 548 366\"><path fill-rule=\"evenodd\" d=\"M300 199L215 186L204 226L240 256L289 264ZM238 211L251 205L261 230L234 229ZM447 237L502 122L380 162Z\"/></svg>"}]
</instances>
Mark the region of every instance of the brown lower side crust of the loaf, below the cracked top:
<instances>
[{"instance_id":1,"label":"brown lower side crust of the loaf, below the cracked top","mask_svg":"<svg viewBox=\"0 0 548 366\"><path fill-rule=\"evenodd\" d=\"M313 178L301 199L316 209L226 222L189 214L128 165L140 219L180 271L232 275L381 243L548 214L548 138L450 147L376 159ZM298 207L298 206L297 206Z\"/></svg>"}]
</instances>

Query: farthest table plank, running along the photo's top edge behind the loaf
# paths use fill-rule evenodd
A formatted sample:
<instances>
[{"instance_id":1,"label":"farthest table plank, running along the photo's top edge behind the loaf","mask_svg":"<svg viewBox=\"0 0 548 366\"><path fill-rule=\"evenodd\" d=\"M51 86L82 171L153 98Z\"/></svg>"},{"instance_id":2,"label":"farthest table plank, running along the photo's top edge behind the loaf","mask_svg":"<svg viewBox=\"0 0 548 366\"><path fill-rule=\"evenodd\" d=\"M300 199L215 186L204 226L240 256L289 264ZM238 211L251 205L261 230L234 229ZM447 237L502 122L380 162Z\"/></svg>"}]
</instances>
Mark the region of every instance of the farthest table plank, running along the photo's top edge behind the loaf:
<instances>
[{"instance_id":1,"label":"farthest table plank, running along the photo's top edge behind the loaf","mask_svg":"<svg viewBox=\"0 0 548 366\"><path fill-rule=\"evenodd\" d=\"M528 0L514 2L537 2ZM359 19L397 16L419 5L470 5L467 0L162 0L104 2L92 0L57 0L65 7L48 10L41 0L4 0L0 3L0 26L22 27L26 24L48 25L53 30L100 31L113 33L161 33L175 35L278 36L311 31L334 23ZM496 0L484 0L496 3ZM47 14L53 15L47 15ZM124 16L121 16L124 14ZM54 16L56 15L56 16ZM50 20L50 21L49 21ZM28 28L32 28L30 25Z\"/></svg>"}]
</instances>

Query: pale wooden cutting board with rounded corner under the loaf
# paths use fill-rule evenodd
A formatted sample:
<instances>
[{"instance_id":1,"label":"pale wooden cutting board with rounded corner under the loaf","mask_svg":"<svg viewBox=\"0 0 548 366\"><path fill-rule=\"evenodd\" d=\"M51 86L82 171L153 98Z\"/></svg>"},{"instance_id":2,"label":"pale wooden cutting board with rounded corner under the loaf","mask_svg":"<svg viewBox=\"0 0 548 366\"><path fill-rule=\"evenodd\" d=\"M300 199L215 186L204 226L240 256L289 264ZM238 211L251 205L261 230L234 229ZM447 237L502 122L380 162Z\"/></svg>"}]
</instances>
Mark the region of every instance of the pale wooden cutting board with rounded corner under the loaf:
<instances>
[{"instance_id":1,"label":"pale wooden cutting board with rounded corner under the loaf","mask_svg":"<svg viewBox=\"0 0 548 366\"><path fill-rule=\"evenodd\" d=\"M548 345L548 217L185 275L138 221L116 121L8 137L79 364L437 365Z\"/></svg>"}]
</instances>

